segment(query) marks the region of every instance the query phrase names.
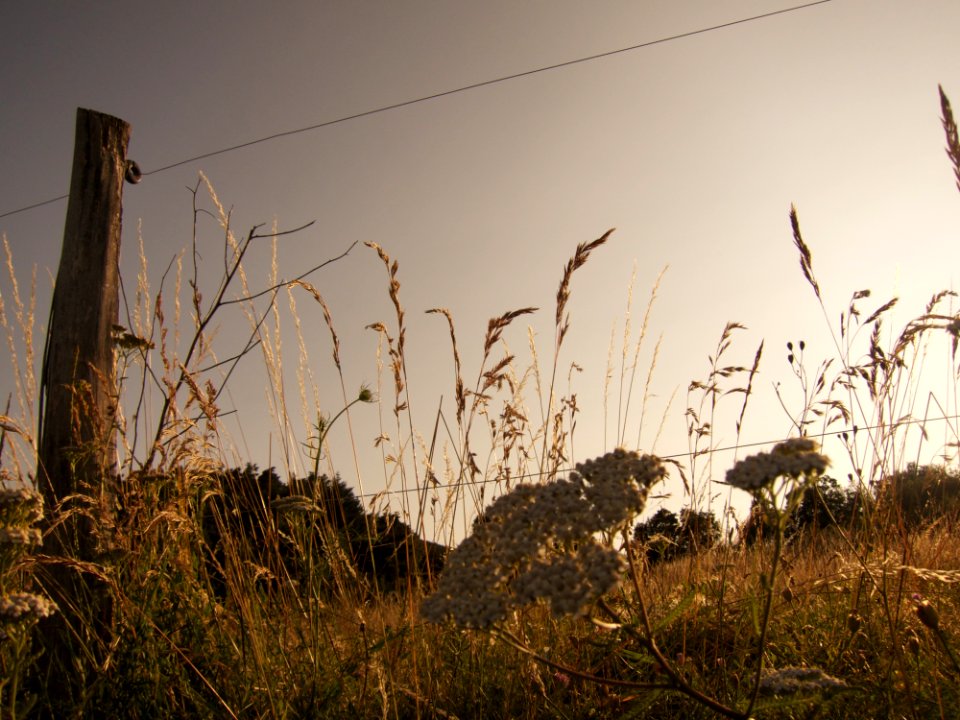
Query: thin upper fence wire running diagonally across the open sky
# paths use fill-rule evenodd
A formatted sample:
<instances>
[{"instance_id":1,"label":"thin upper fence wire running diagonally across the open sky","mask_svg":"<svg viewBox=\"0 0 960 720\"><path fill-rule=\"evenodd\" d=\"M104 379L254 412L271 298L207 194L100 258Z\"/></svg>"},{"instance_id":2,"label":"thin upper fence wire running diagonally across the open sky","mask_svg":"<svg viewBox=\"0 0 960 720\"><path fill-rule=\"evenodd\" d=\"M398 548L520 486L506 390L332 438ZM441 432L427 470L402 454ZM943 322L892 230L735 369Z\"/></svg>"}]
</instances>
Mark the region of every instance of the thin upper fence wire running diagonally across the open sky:
<instances>
[{"instance_id":1,"label":"thin upper fence wire running diagonally across the open sky","mask_svg":"<svg viewBox=\"0 0 960 720\"><path fill-rule=\"evenodd\" d=\"M814 0L814 2L808 2L803 5L794 5L793 7L783 8L781 10L773 10L771 12L762 13L760 15L752 15L750 17L740 18L739 20L731 20L730 22L721 23L719 25L711 25L710 27L700 28L698 30L690 30L688 32L678 33L676 35L670 35L668 37L658 38L657 40L648 40L646 42L637 43L636 45L630 45L629 47L619 48L617 50L608 50L606 52L596 53L594 55L587 55L584 57L576 58L574 60L566 60L564 62L554 63L553 65L544 65L543 67L534 68L532 70L524 70L522 72L513 73L511 75L504 75L502 77L493 78L492 80L483 80L481 82L472 83L470 85L462 85L452 90L443 90L441 92L433 93L432 95L424 95L422 97L414 98L412 100L404 100L402 102L393 103L390 105L382 105L380 107L373 108L372 110L364 110L363 112L354 113L353 115L344 115L343 117L339 117L334 120L326 120L324 122L316 123L314 125L307 125L305 127L297 128L295 130L284 130L282 132L273 133L272 135L266 135L264 137L257 138L256 140L249 140L247 142L240 143L239 145L231 145L230 147L221 148L220 150L212 150L210 152L202 153L200 155L195 155L193 157L187 158L186 160L178 160L177 162L170 163L169 165L164 165L162 167L154 168L153 170L145 171L143 172L143 175L144 176L156 175L157 173L161 173L166 170L171 170L175 167L180 167L181 165L187 165L189 163L196 162L197 160L205 160L207 158L215 157L217 155L224 155L226 153L234 152L236 150L242 150L243 148L251 147L252 145L259 145L260 143L270 142L271 140L277 140L279 138L289 137L291 135L299 135L300 133L310 132L312 130L319 130L321 128L330 127L331 125L338 125L340 123L349 122L351 120L358 120L360 118L369 117L371 115L378 115L380 113L389 112L391 110L398 110L400 108L409 107L410 105L416 105L418 103L424 103L430 100L437 100L439 98L449 97L450 95L456 95L458 93L463 93L470 90L477 90L482 87L496 85L498 83L507 82L509 80L518 80L519 78L528 77L530 75L536 75L542 72L548 72L550 70L559 70L561 68L571 67L572 65L579 65L581 63L593 62L595 60L602 60L604 58L612 57L614 55L633 52L636 50L652 47L654 45L673 42L675 40L682 40L684 38L693 37L695 35L702 35L704 33L713 32L714 30L723 30L725 28L734 27L735 25L743 25L745 23L754 22L756 20L764 20L766 18L771 18L776 15L784 15L786 13L796 12L798 10L805 10L807 8L814 7L816 5L824 5L829 2L833 2L833 0ZM0 218L9 217L10 215L16 215L17 213L26 212L28 210L33 210L43 205L48 205L50 203L54 203L59 200L64 200L67 197L68 197L67 195L61 195L59 197L51 198L49 200L44 200L42 202L34 203L32 205L27 205L25 207L21 207L16 210L9 210L5 213L0 214Z\"/></svg>"}]
</instances>

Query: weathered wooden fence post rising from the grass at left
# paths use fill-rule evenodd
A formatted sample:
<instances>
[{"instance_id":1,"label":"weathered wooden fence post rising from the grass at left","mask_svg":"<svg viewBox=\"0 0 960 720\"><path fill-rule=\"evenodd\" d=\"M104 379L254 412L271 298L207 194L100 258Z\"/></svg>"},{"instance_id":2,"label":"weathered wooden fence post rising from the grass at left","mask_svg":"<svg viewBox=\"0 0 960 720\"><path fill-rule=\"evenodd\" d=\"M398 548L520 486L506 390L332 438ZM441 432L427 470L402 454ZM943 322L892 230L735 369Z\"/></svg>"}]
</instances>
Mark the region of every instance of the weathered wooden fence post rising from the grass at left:
<instances>
[{"instance_id":1,"label":"weathered wooden fence post rising from the grass at left","mask_svg":"<svg viewBox=\"0 0 960 720\"><path fill-rule=\"evenodd\" d=\"M70 199L40 382L37 485L47 508L45 590L60 612L41 623L44 712L76 708L83 653L102 657L112 600L90 568L113 524L116 468L113 325L119 311L121 198L130 126L77 110ZM60 503L72 495L82 500ZM45 678L45 679L43 679ZM53 688L56 688L54 691Z\"/></svg>"}]
</instances>

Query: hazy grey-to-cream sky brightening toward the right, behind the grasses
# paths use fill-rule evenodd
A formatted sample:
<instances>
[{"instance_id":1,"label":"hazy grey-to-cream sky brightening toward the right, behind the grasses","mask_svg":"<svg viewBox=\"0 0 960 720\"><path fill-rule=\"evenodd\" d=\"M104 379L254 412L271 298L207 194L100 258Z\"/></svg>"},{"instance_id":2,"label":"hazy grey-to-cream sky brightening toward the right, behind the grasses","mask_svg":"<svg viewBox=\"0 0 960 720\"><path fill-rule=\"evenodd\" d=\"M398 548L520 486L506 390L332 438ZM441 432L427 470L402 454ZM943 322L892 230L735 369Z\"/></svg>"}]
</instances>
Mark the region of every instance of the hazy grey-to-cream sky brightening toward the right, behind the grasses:
<instances>
[{"instance_id":1,"label":"hazy grey-to-cream sky brightening toward the right, behind the grasses","mask_svg":"<svg viewBox=\"0 0 960 720\"><path fill-rule=\"evenodd\" d=\"M745 326L727 350L731 364L749 366L761 341L765 348L739 440L773 441L791 432L776 383L788 408L802 403L788 341L805 340L813 373L836 354L828 321L836 325L854 291L875 293L864 301L867 312L899 297L905 320L922 313L934 292L954 288L960 197L944 154L937 94L941 84L960 102L954 0L831 0L153 171L798 4L3 3L0 214L68 192L78 107L126 120L129 156L145 173L124 189L121 275L128 293L136 287L141 238L154 292L164 269L190 247L190 189L201 172L231 210L239 237L260 224L313 222L279 241L276 272L291 279L352 248L308 278L330 308L351 396L364 383L377 389L378 335L367 326L396 326L383 263L363 243L379 244L399 263L410 405L425 443L438 407L446 418L454 408L447 326L424 311L451 312L469 386L488 319L538 307L504 340L518 364L529 363L529 327L548 367L564 264L578 243L616 228L571 288L571 330L558 373L567 392L570 364L580 368L572 372L581 412L571 460L616 445L615 410L608 410L613 419L604 430L611 335L619 362L631 277L635 341L664 268L639 355L642 385L662 338L640 449L689 451L684 411L699 400L688 398L687 387L705 379L728 322ZM198 197L213 208L202 189ZM825 313L799 269L791 204L813 252ZM21 292L37 271L38 338L65 212L61 200L0 217ZM223 235L207 215L200 216L198 248L210 297ZM270 284L271 266L269 241L258 241L246 263L252 289ZM0 279L0 292L9 311L9 278ZM320 410L332 416L343 399L330 334L310 296L294 295ZM239 306L221 318L216 347L226 357L249 330ZM297 341L283 322L284 388L299 408ZM14 390L4 355L0 391L7 396ZM390 393L389 373L381 374ZM221 435L231 463L283 467L268 385L254 353L221 398L223 410L235 411ZM631 447L638 446L641 396L634 391L628 416ZM724 399L734 420L740 401ZM718 447L737 442L730 417L714 427ZM382 448L374 447L381 433L376 410L355 407L351 422L358 460L340 422L328 438L336 469L364 493L396 489L397 481L384 477ZM293 446L306 439L302 422L298 428L288 438ZM941 436L933 450L948 441ZM722 479L735 456L712 457L707 480ZM290 469L300 473L305 462L300 452ZM678 479L665 492L670 497L657 502L683 503Z\"/></svg>"}]
</instances>

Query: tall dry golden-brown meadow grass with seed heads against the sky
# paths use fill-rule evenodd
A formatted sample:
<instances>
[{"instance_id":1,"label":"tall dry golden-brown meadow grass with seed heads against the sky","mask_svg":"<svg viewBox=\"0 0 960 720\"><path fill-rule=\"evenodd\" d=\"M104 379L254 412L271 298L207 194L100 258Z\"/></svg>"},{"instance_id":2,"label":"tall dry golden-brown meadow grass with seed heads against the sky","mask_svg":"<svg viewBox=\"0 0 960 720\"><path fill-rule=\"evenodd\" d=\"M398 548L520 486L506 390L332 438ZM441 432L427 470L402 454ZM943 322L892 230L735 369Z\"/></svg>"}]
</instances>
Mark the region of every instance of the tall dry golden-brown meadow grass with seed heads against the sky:
<instances>
[{"instance_id":1,"label":"tall dry golden-brown meadow grass with seed heads against the sky","mask_svg":"<svg viewBox=\"0 0 960 720\"><path fill-rule=\"evenodd\" d=\"M941 99L948 156L960 178L960 142L949 102L945 95ZM774 528L766 542L738 543L734 533L717 547L647 564L642 548L627 540L632 517L612 518L565 547L555 530L552 539L540 539L535 558L505 566L505 592L519 588L537 563L577 557L570 553L594 540L616 551L610 557L622 569L619 584L594 592L580 602L579 612L517 602L485 630L470 630L421 615L424 597L440 582L432 571L411 571L389 586L379 577L386 567L372 575L362 572L356 543L345 542L344 525L335 520L337 508L330 505L337 503L318 491L319 484L291 481L292 497L280 503L225 474L232 456L222 447L219 402L236 363L259 353L271 378L277 435L284 438L283 471L293 478L301 468L301 479L310 471L329 477L356 471L359 478L357 448L367 439L356 436L352 413L375 404L384 477L388 488L400 492L379 498L380 520L363 516L360 542L370 543L372 551L383 523L395 518L423 539L454 545L474 532L473 520L496 498L530 485L527 478L540 488L559 487L559 481L570 480L567 468L585 459L577 457L574 445L578 399L560 389L568 367L573 371L564 340L576 275L589 271L584 268L591 254L603 251L612 231L579 245L564 267L545 357L532 336L528 364L511 351L508 331L533 308L510 310L489 321L476 376L466 378L452 314L445 308L430 311L449 331L455 413L452 418L438 413L431 427L418 428L411 404L421 399L408 389L400 264L370 245L386 272L393 317L371 326L380 342L376 386L354 391L341 364L334 318L310 273L285 283L275 263L264 289L252 287L244 272L251 243L275 241L280 232L254 229L238 239L205 179L194 197L193 251L168 269L154 291L142 264L126 327L117 338L117 376L123 378L116 428L119 475L103 479L103 487L78 487L44 508L44 517L31 510L36 496L29 493L11 493L13 500L4 505L0 716L919 719L955 714L960 539L948 517L929 527L909 527L885 492L885 480L915 455L907 452L908 439L926 438L931 413L917 399L925 358L936 352L950 358L952 374L938 378L946 388L941 409L949 407L947 398L956 389L960 318L942 309L951 293L934 294L924 312L896 332L884 324L892 301L867 312L861 308L870 302L868 295L856 293L831 331L831 357L811 371L803 345L789 348L803 402L791 408L782 400L784 410L797 436L843 432L847 457L832 460L835 466L849 464L850 482L863 490L863 523L787 538L790 514L819 470L778 466L776 476L753 488ZM204 209L205 198L212 210ZM225 269L205 301L198 291L203 274L196 235L208 215L222 233ZM789 220L801 272L824 316L832 316L823 305L796 211ZM29 486L37 447L30 430L37 397L35 290L29 299L21 297L5 247L12 305L0 308L0 325L18 405L3 414L0 457L5 485ZM629 442L631 412L640 414L641 428L646 421L659 341L645 376L638 357L659 284L660 278L638 338L631 337L629 326L631 289L619 353L611 340L603 403L611 405L607 409L616 421L604 434L617 445ZM183 292L185 285L193 291ZM182 294L189 296L183 305ZM305 296L319 308L331 337L341 394L340 409L332 415L321 411L315 365L306 352L301 317L309 309L297 301ZM226 347L210 328L233 304L243 308L250 332L238 347ZM296 348L292 367L281 341L287 322ZM732 403L739 443L764 358L761 344L750 364L727 360L739 327L723 328L705 379L690 383L684 412L689 452L666 466L682 479L695 509L710 507L711 483L737 481L736 473L727 476L730 468L715 459L714 425L726 416L721 406ZM643 401L636 409L631 398L638 373ZM299 397L287 394L283 378L291 374ZM333 425L345 425L352 438L353 468L332 464L327 437ZM298 437L308 438L302 450ZM956 447L956 440L948 445ZM781 457L777 452L761 457L774 462ZM586 493L578 496L580 507L599 507L583 500L599 485L590 480L578 491ZM357 491L364 494L362 485ZM387 504L390 497L399 502ZM246 498L246 525L236 522L231 510L240 507L230 504L238 498ZM93 551L71 552L67 546L65 552L50 552L47 539L72 517L95 520ZM495 514L487 521L499 522ZM43 530L43 544L36 528ZM398 548L404 567L417 567L417 548L416 541ZM482 570L486 562L489 558L481 557L464 567ZM571 567L572 577L588 570L576 562ZM548 588L540 597L567 590ZM58 608L52 615L43 604L47 598Z\"/></svg>"}]
</instances>

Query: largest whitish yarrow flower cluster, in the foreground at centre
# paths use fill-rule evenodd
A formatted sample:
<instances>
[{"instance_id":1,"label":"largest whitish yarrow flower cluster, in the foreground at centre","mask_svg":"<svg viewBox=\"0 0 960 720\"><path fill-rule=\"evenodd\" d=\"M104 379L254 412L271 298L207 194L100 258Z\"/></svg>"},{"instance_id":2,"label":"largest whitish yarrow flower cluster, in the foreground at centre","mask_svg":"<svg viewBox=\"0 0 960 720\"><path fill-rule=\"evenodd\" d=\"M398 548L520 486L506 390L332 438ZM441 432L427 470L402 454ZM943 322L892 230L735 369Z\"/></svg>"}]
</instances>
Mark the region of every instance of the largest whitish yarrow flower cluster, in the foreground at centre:
<instances>
[{"instance_id":1,"label":"largest whitish yarrow flower cluster, in the foreground at centre","mask_svg":"<svg viewBox=\"0 0 960 720\"><path fill-rule=\"evenodd\" d=\"M665 475L658 458L617 449L578 464L567 479L500 496L451 553L421 615L488 629L537 600L556 615L579 614L624 570L620 554L594 534L639 514L650 486Z\"/></svg>"}]
</instances>

